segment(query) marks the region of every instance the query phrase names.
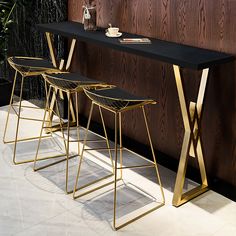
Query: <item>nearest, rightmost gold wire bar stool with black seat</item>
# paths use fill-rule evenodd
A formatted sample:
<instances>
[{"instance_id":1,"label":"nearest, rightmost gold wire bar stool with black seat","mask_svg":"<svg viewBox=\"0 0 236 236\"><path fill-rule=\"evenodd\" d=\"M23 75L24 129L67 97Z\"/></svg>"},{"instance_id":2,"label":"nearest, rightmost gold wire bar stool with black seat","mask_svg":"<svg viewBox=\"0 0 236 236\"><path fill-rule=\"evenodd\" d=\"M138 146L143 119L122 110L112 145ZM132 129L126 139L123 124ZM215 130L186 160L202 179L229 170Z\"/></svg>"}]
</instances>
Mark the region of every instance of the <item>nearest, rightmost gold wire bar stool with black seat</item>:
<instances>
[{"instance_id":1,"label":"nearest, rightmost gold wire bar stool with black seat","mask_svg":"<svg viewBox=\"0 0 236 236\"><path fill-rule=\"evenodd\" d=\"M149 212L151 212L153 210L156 210L157 208L159 208L165 204L164 192L163 192L162 183L161 183L161 179L160 179L160 175L159 175L159 171L158 171L158 167L157 167L157 162L156 162L156 158L155 158L155 153L154 153L154 149L153 149L153 145L152 145L152 140L151 140L151 135L150 135L149 127L148 127L147 117L146 117L146 113L145 113L145 109L144 109L145 105L156 104L156 102L151 99L136 97L136 96L131 95L128 92L126 92L122 89L119 89L117 87L111 87L111 88L105 88L105 89L101 88L101 89L97 89L97 90L96 89L93 89L93 90L84 89L84 91L85 91L86 95L92 100L92 105L90 108L87 130L86 130L86 134L85 134L81 158L80 158L79 165L78 165L78 172L77 172L76 181L75 181L73 198L76 199L78 197L81 197L81 196L84 196L88 193L91 193L92 191L95 191L99 188L105 187L108 184L114 183L113 228L115 230L118 230L118 229L126 226L127 224L141 218L142 216L148 214ZM94 105L97 105L99 107L99 109L103 108L105 110L108 110L108 111L114 113L114 115L115 115L115 148L114 148L114 151L115 151L115 176L114 177L115 178L114 178L114 181L112 181L108 184L101 185L100 187L96 187L92 190L89 190L87 192L85 191L79 195L76 195L76 192L78 190L84 188L84 186L78 188L78 181L79 181L79 175L80 175L84 152L87 150L90 150L89 148L85 149L85 146L86 146L86 140L87 140L88 130L90 127L90 122L91 122L91 117L92 117ZM133 109L138 109L138 108L141 108L142 113L143 113L147 136L148 136L148 140L149 140L151 151L152 151L153 161L149 161L149 163L151 163L151 164L148 164L148 165L123 166L122 121L121 121L122 113L125 111L128 111L128 110L133 110ZM120 139L119 145L120 145L120 147L118 147L118 141L117 141L118 140L118 129L119 129L119 139ZM118 150L120 150L120 166L119 167L118 167ZM142 214L139 214L138 216L135 216L132 219L127 220L123 224L119 224L117 226L116 225L117 181L122 180L122 178L123 178L122 169L150 168L150 167L155 168L155 171L156 171L157 183L159 183L161 196L162 196L161 203L157 204L152 209L150 209L146 212L143 212ZM117 173L118 170L120 170L120 178L118 178L118 173Z\"/></svg>"}]
</instances>

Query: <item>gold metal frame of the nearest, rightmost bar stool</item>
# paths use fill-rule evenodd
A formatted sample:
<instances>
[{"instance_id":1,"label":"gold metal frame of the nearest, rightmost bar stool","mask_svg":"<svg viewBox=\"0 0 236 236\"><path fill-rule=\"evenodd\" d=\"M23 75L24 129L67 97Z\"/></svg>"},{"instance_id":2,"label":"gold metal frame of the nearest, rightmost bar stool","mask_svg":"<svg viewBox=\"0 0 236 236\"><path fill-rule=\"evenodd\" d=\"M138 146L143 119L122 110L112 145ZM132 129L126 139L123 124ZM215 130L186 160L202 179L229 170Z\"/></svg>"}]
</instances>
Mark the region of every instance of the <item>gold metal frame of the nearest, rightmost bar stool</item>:
<instances>
[{"instance_id":1,"label":"gold metal frame of the nearest, rightmost bar stool","mask_svg":"<svg viewBox=\"0 0 236 236\"><path fill-rule=\"evenodd\" d=\"M85 93L88 95L88 90L86 91L85 90ZM88 95L89 96L89 95ZM103 104L101 103L97 103L97 102L94 102L94 100L90 97L90 99L92 100L92 105L91 105L91 108L90 108L90 113L89 113L89 118L88 118L88 124L87 124L87 129L86 129L86 134L85 134L85 139L84 139L84 144L83 144L83 149L82 149L82 152L81 152L81 158L80 158L80 161L79 161L79 165L78 165L78 172L77 172L77 176L76 176L76 180L75 180L75 186L74 186L74 192L73 192L73 198L74 199L77 199L79 197L82 197L86 194L89 194L91 192L94 192L98 189L101 189L105 186L108 186L110 184L114 184L114 200L113 200L113 228L114 230L118 230L118 229L121 229L122 227L134 222L135 220L145 216L146 214L160 208L161 206L163 206L165 204L165 197L164 197L164 192L163 192L163 188L162 188L162 183L161 183L161 179L160 179L160 175L159 175L159 171L158 171L158 166L157 166L157 162L156 162L156 157L155 157L155 153L154 153L154 149L153 149L153 145L152 145L152 140L151 140L151 135L150 135L150 130L149 130L149 127L148 127L148 122L147 122L147 117L146 117L146 113L145 113L145 109L144 109L144 105L145 104L139 104L137 106L132 106L132 107L126 107L122 110L119 110L119 111L115 111L113 109L109 109L107 106L104 106ZM115 100L115 99L114 99ZM150 103L154 103L154 101L149 101L147 102L147 104L150 104ZM109 178L111 177L110 175L108 176L105 176L104 178L101 178L101 179L98 179L96 181L93 181L91 183L88 183L84 186L80 186L78 187L78 182L79 182L79 176L80 176L80 170L81 170L81 165L82 165L82 161L83 161L83 158L84 158L84 151L88 151L88 150L95 150L95 149L91 149L91 148L85 148L86 146L86 141L87 141L87 135L88 135L88 130L89 130L89 127L90 127L90 122L91 122L91 117L92 117L92 113L93 113L93 107L94 105L97 105L99 107L99 110L101 111L101 108L103 109L106 109L106 110L109 110L111 112L114 113L115 115L115 148L109 148L109 150L115 150L115 166L114 166L114 180L113 181L110 181L108 183L105 183L105 184L101 184L100 186L98 187L95 187L95 188L92 188L90 190L87 190L81 194L76 194L76 192L78 190L82 190L88 186L91 186L93 185L94 183L98 183L100 181L103 181L104 179L106 178ZM130 109L134 109L134 108L141 108L142 109L142 112L143 112L143 116L144 116L144 122L145 122L145 126L146 126L146 131L147 131L147 135L148 135L148 140L149 140L149 143L150 143L150 148L151 148L151 151L152 151L152 157L153 157L153 161L150 161L150 160L147 160L148 162L150 162L151 164L149 165L134 165L134 166L123 166L123 156L122 156L122 151L123 151L123 145L122 145L122 112L124 111L127 111L127 110L130 110ZM103 124L104 125L104 124ZM118 137L118 129L119 129L119 137ZM118 138L119 138L119 144L120 144L120 147L118 147ZM100 149L98 149L100 150ZM120 165L118 167L118 150L120 150ZM117 205L117 182L119 180L122 180L123 179L123 173L122 173L122 170L123 169L135 169L135 168L155 168L155 171L156 171L156 175L157 175L157 183L159 183L159 186L160 186L160 191L161 191L161 196L162 196L162 201L161 202L156 202L157 205L155 207L152 207L151 209L139 214L138 216L135 216L133 218L131 218L130 220L128 221L125 221L124 223L122 224L119 224L117 225L116 221L117 221L117 218L116 218L116 205ZM118 170L120 170L120 176L118 176Z\"/></svg>"}]
</instances>

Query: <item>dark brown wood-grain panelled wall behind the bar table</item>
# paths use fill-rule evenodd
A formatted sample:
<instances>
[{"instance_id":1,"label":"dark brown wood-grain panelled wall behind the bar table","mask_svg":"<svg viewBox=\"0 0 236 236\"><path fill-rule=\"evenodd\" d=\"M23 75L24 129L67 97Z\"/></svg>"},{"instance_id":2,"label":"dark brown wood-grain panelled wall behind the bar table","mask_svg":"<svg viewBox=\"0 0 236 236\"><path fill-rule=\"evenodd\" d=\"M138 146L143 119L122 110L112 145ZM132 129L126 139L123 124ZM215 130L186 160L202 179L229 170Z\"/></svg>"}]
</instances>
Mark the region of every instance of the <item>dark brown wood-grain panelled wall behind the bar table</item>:
<instances>
[{"instance_id":1,"label":"dark brown wood-grain panelled wall behind the bar table","mask_svg":"<svg viewBox=\"0 0 236 236\"><path fill-rule=\"evenodd\" d=\"M69 0L69 19L81 22L82 0ZM98 25L110 22L121 31L224 51L236 56L234 0L97 0ZM171 65L81 43L74 70L153 97L148 108L155 148L179 158L183 124ZM202 120L207 172L236 186L236 64L211 70ZM184 70L188 100L196 97L200 73ZM82 108L86 112L86 108ZM124 117L124 134L146 142L140 113ZM107 121L112 127L111 117ZM192 162L194 165L194 162Z\"/></svg>"}]
</instances>

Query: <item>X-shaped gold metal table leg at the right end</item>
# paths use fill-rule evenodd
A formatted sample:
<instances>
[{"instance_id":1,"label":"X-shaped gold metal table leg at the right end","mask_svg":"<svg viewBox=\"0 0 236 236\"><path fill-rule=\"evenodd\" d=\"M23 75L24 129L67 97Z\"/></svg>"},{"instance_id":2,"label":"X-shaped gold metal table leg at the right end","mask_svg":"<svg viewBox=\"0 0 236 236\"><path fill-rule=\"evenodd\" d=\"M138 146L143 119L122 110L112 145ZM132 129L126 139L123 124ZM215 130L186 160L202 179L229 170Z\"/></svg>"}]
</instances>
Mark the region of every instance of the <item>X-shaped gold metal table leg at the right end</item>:
<instances>
[{"instance_id":1,"label":"X-shaped gold metal table leg at the right end","mask_svg":"<svg viewBox=\"0 0 236 236\"><path fill-rule=\"evenodd\" d=\"M172 200L172 204L178 207L208 190L206 169L201 146L200 122L209 68L204 69L202 72L197 102L190 102L189 109L186 105L180 67L174 65L173 68L185 130L179 168L175 182L174 196ZM198 161L202 183L200 186L183 194L183 186L189 156L195 157Z\"/></svg>"}]
</instances>

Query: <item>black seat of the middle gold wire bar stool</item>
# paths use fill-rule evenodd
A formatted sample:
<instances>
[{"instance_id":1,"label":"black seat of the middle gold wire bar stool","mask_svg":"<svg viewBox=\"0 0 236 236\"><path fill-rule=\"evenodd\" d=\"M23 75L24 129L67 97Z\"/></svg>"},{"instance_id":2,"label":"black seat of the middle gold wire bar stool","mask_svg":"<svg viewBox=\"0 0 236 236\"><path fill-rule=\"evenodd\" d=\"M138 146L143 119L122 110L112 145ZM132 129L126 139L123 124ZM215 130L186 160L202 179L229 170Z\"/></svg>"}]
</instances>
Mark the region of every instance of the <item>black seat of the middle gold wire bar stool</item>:
<instances>
[{"instance_id":1,"label":"black seat of the middle gold wire bar stool","mask_svg":"<svg viewBox=\"0 0 236 236\"><path fill-rule=\"evenodd\" d=\"M62 90L78 90L83 87L102 85L104 82L90 79L80 73L45 73L44 78L52 85Z\"/></svg>"}]
</instances>

